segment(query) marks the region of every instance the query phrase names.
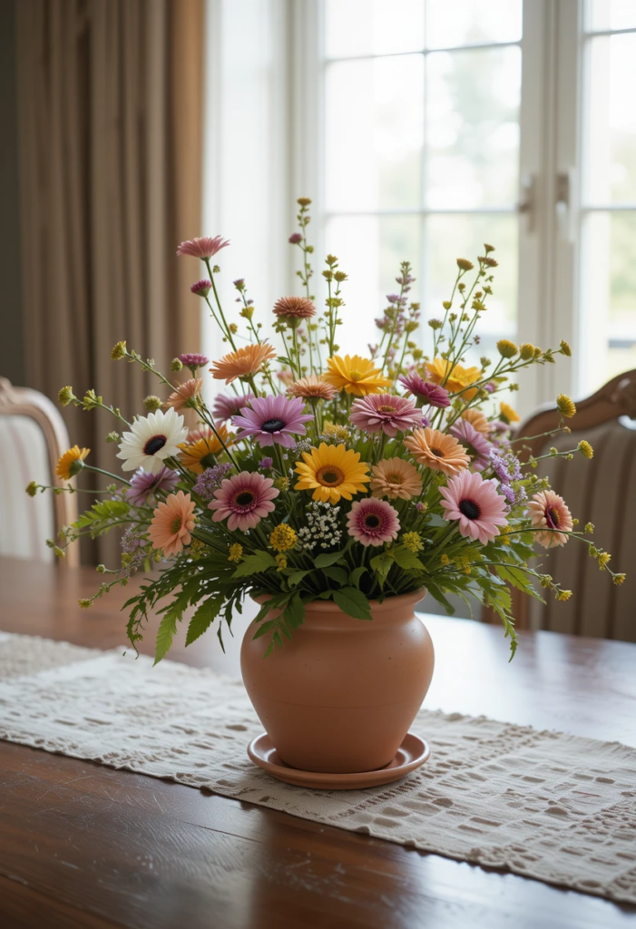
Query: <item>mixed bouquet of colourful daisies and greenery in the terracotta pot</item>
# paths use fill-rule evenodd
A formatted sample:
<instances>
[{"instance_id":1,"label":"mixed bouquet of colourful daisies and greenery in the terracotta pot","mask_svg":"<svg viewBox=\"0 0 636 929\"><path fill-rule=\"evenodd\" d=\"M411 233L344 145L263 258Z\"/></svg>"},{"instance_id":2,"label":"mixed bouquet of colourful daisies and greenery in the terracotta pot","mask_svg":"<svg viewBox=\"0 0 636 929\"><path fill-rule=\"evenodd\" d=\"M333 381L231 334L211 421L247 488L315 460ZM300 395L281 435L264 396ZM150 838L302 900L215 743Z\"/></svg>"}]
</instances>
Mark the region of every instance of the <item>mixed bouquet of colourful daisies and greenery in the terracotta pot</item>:
<instances>
[{"instance_id":1,"label":"mixed bouquet of colourful daisies and greenery in the terracotta pot","mask_svg":"<svg viewBox=\"0 0 636 929\"><path fill-rule=\"evenodd\" d=\"M186 369L190 377L173 383L125 342L112 349L112 360L140 365L166 392L163 400L146 398L146 415L129 422L94 390L82 399L70 386L59 391L62 405L106 410L118 420L121 434L111 432L107 441L119 446L123 475L110 474L113 483L101 498L49 544L63 556L80 536L125 530L121 565L97 567L109 579L94 597L80 601L83 607L114 584L125 585L136 571L149 572L152 562L162 564L126 604L135 648L150 612L161 615L156 661L170 648L188 608L195 610L187 644L218 620L223 646L223 621L229 628L244 597L258 597L256 636L267 637L268 654L292 637L305 605L316 599L332 600L364 621L370 620L371 600L420 589L448 613L448 594L493 608L513 655L509 585L539 599L537 587L558 600L570 596L550 575L530 567L534 543L551 548L583 542L614 582L625 577L588 539L593 527L578 530L565 501L537 473L539 459L523 460L513 407L504 400L495 405L502 391L517 389L518 371L569 356L570 347L562 342L542 350L501 339L496 361L469 363L497 267L495 250L486 244L476 266L457 260L442 318L428 321L428 354L414 338L421 309L410 297L408 262L396 278L398 292L388 295L376 321L380 335L368 357L341 354L337 334L346 319L346 274L328 255L322 271L328 295L318 312L311 293L313 248L306 238L311 202L298 203L299 231L290 242L300 252L297 273L305 293L281 297L273 307L278 348L255 321L245 281L234 281L238 314L228 316L221 305L215 284L220 268L212 260L228 242L194 239L177 250L205 263L208 277L191 291L206 302L227 344L209 371L228 389L211 407L202 396L210 364L205 356L175 358L172 372ZM575 405L562 394L557 407L562 418L555 431L567 432L565 420ZM593 452L583 440L544 457L575 453L591 458ZM99 470L88 454L78 446L66 451L58 478L70 481L84 470ZM44 490L34 482L27 488L32 495ZM63 490L77 492L72 484Z\"/></svg>"}]
</instances>

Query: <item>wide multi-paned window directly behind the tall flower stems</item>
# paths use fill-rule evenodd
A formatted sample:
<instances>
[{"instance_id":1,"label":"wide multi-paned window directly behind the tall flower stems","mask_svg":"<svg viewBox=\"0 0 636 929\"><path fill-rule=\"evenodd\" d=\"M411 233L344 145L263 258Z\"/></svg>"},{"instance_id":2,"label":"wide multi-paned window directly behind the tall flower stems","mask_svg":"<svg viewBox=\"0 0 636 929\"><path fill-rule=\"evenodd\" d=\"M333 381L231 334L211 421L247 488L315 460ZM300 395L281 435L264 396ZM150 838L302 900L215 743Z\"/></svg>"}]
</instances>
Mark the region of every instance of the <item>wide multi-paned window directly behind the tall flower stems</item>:
<instances>
[{"instance_id":1,"label":"wide multi-paned window directly behind the tall flower stems","mask_svg":"<svg viewBox=\"0 0 636 929\"><path fill-rule=\"evenodd\" d=\"M516 334L521 0L325 0L323 16L324 242L350 275L344 349L376 341L400 261L426 320L454 259L492 242L477 355L492 352Z\"/></svg>"}]
</instances>

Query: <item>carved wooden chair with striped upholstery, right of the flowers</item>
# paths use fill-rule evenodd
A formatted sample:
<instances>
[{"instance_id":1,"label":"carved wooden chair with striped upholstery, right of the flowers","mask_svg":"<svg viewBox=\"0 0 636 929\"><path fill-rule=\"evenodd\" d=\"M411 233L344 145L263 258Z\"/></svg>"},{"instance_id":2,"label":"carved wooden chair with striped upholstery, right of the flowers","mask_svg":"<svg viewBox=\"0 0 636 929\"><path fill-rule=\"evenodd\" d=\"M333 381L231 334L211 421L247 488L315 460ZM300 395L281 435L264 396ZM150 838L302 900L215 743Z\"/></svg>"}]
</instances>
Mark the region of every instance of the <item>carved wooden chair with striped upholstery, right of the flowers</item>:
<instances>
[{"instance_id":1,"label":"carved wooden chair with striped upholstery, right of the flowers","mask_svg":"<svg viewBox=\"0 0 636 929\"><path fill-rule=\"evenodd\" d=\"M558 426L560 413L544 407L520 426L519 436L540 436ZM570 635L590 635L636 641L636 370L619 374L588 399L577 403L577 414L567 420L572 432L548 438L528 438L522 459L538 457L551 447L565 451L587 438L594 450L591 461L581 454L539 462L536 473L550 478L579 528L587 522L588 536L612 555L611 566L627 574L621 586L612 582L588 554L586 544L570 540L537 559L541 570L573 591L566 602L553 595L538 600L513 591L518 629L548 629ZM519 448L519 446L517 446ZM545 593L545 592L541 592Z\"/></svg>"}]
</instances>

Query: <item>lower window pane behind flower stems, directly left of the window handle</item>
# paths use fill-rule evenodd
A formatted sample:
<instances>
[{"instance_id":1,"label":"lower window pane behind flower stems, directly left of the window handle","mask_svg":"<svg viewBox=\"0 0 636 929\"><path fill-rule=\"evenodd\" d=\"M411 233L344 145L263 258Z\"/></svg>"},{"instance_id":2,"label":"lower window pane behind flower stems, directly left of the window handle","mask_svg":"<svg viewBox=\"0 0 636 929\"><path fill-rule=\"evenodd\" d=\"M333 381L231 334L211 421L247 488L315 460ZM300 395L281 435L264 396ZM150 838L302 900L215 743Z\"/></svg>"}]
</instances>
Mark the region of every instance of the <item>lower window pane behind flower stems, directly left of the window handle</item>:
<instances>
[{"instance_id":1,"label":"lower window pane behind flower stems, directly left of the window handle","mask_svg":"<svg viewBox=\"0 0 636 929\"><path fill-rule=\"evenodd\" d=\"M429 216L426 220L426 294L423 302L424 324L441 319L442 302L448 300L457 274L456 258L468 258L477 268L476 256L484 255L484 242L494 245L492 255L499 262L494 268L493 294L487 298L487 312L479 322L481 342L470 358L478 362L482 355L497 360L496 343L500 338L515 338L517 319L517 236L516 216ZM473 281L474 271L466 275ZM455 307L459 306L456 301ZM425 326L428 330L428 327Z\"/></svg>"}]
</instances>

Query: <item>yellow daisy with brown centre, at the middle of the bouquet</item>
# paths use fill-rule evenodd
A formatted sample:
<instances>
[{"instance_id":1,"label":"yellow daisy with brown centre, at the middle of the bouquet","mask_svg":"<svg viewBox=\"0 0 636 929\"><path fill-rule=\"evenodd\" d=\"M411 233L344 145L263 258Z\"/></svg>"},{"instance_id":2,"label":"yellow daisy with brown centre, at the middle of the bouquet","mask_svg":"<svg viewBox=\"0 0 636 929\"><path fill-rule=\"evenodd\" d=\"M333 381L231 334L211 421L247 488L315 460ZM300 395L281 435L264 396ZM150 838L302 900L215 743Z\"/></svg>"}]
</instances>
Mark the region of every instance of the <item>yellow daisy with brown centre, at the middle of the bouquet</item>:
<instances>
[{"instance_id":1,"label":"yellow daisy with brown centre, at the middle of the bouquet","mask_svg":"<svg viewBox=\"0 0 636 929\"><path fill-rule=\"evenodd\" d=\"M369 468L360 463L359 451L320 442L318 449L304 451L303 459L296 462L300 479L294 490L314 491L313 499L325 504L337 504L341 497L351 500L355 493L366 491Z\"/></svg>"}]
</instances>

